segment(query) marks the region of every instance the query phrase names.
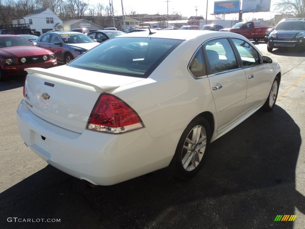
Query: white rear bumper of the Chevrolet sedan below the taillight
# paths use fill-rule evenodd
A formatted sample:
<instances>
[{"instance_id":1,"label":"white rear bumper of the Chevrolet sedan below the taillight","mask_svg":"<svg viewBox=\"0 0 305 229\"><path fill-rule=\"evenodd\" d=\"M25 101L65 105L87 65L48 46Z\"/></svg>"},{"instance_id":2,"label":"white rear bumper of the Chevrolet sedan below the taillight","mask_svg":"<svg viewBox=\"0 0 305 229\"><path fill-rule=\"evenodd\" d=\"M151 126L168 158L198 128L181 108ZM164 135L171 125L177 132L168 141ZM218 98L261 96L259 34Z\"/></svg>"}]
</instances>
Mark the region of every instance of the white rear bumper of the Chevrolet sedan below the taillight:
<instances>
[{"instance_id":1,"label":"white rear bumper of the Chevrolet sedan below the taillight","mask_svg":"<svg viewBox=\"0 0 305 229\"><path fill-rule=\"evenodd\" d=\"M76 133L34 115L24 100L17 109L24 142L54 167L97 185L117 184L167 167L181 131L153 138L146 128L124 134Z\"/></svg>"}]
</instances>

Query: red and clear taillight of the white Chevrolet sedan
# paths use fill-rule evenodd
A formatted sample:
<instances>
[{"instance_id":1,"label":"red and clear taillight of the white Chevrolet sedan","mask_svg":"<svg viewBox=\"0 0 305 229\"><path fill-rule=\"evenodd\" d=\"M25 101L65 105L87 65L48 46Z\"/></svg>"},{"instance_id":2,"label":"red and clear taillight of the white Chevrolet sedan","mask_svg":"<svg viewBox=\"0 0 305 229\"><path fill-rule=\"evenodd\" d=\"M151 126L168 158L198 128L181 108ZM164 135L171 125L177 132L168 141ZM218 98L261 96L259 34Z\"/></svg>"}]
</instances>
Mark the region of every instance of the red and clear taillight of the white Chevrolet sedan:
<instances>
[{"instance_id":1,"label":"red and clear taillight of the white Chevrolet sedan","mask_svg":"<svg viewBox=\"0 0 305 229\"><path fill-rule=\"evenodd\" d=\"M123 133L141 127L143 124L137 112L118 97L103 93L91 112L87 128L108 133Z\"/></svg>"}]
</instances>

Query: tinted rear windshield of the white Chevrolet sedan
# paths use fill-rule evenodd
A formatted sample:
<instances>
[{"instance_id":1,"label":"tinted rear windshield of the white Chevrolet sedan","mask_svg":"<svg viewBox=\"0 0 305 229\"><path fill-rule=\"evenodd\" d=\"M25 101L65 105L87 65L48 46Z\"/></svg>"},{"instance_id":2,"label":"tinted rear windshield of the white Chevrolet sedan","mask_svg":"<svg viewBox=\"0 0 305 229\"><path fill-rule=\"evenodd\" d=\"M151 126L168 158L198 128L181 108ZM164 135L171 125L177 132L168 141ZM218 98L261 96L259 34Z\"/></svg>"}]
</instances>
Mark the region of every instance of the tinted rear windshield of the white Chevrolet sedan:
<instances>
[{"instance_id":1,"label":"tinted rear windshield of the white Chevrolet sedan","mask_svg":"<svg viewBox=\"0 0 305 229\"><path fill-rule=\"evenodd\" d=\"M101 43L67 65L90 71L147 78L182 42L165 38L116 37Z\"/></svg>"}]
</instances>

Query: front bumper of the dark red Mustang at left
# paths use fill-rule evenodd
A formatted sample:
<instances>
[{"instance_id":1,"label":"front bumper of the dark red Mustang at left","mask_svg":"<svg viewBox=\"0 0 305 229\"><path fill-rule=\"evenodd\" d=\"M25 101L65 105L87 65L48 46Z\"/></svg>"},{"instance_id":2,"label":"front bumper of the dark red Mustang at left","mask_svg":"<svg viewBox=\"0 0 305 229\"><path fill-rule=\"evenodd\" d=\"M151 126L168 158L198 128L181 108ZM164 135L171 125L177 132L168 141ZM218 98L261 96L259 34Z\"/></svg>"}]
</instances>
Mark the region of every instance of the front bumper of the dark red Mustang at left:
<instances>
[{"instance_id":1,"label":"front bumper of the dark red Mustang at left","mask_svg":"<svg viewBox=\"0 0 305 229\"><path fill-rule=\"evenodd\" d=\"M49 67L56 67L57 61L56 60L48 60L44 63L39 64L27 64L27 65L15 65L15 66L3 66L2 70L4 75L26 75L27 72L24 71L25 68L30 67L41 67L41 68L49 68Z\"/></svg>"}]
</instances>

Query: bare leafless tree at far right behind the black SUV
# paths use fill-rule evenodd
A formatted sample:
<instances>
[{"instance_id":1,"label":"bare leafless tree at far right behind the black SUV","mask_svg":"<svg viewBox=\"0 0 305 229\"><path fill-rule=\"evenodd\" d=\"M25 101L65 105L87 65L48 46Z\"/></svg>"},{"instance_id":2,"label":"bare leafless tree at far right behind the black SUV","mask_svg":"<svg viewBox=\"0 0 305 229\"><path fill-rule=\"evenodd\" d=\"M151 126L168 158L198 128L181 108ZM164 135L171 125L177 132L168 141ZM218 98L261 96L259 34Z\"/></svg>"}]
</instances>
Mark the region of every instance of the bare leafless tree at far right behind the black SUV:
<instances>
[{"instance_id":1,"label":"bare leafless tree at far right behind the black SUV","mask_svg":"<svg viewBox=\"0 0 305 229\"><path fill-rule=\"evenodd\" d=\"M295 17L305 17L305 0L282 0L275 4L275 10Z\"/></svg>"}]
</instances>

